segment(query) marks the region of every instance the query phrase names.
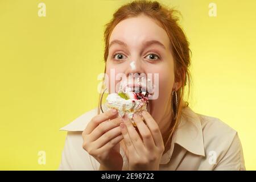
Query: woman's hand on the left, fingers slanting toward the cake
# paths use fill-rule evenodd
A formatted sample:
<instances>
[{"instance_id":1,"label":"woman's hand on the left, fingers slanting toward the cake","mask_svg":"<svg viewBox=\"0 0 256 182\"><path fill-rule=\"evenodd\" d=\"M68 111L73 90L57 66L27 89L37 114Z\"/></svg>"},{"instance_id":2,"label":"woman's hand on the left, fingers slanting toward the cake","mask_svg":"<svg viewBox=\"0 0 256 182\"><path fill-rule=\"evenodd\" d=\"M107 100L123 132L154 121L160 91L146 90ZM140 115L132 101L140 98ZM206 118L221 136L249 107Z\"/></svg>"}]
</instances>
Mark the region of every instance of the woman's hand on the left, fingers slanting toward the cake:
<instances>
[{"instance_id":1,"label":"woman's hand on the left, fingers slanting toward the cake","mask_svg":"<svg viewBox=\"0 0 256 182\"><path fill-rule=\"evenodd\" d=\"M93 117L82 132L82 148L100 163L100 170L122 170L120 123L122 119L117 118L117 110L113 109Z\"/></svg>"}]
</instances>

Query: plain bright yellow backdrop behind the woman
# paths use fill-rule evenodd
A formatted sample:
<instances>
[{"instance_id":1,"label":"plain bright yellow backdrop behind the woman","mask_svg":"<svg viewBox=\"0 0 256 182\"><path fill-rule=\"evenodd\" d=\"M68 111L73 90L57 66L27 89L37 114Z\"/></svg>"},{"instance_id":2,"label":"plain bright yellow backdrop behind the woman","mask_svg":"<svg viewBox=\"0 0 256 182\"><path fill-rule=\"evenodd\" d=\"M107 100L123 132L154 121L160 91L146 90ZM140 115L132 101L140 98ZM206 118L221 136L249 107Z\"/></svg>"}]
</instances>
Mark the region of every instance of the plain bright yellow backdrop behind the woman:
<instances>
[{"instance_id":1,"label":"plain bright yellow backdrop behind the woman","mask_svg":"<svg viewBox=\"0 0 256 182\"><path fill-rule=\"evenodd\" d=\"M0 169L57 169L66 135L59 129L97 106L104 24L126 2L0 0ZM237 130L246 168L256 169L256 1L160 2L183 15L192 109Z\"/></svg>"}]
</instances>

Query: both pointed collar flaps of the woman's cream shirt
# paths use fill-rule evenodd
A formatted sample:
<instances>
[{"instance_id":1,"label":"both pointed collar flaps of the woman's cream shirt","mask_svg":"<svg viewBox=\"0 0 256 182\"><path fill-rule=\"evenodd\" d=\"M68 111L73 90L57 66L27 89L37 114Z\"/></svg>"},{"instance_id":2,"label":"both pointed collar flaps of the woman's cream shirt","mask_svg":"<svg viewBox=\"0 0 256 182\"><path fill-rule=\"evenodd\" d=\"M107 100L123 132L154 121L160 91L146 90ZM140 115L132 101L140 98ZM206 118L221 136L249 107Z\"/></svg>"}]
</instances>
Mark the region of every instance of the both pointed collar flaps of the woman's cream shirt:
<instances>
[{"instance_id":1,"label":"both pointed collar flaps of the woman's cream shirt","mask_svg":"<svg viewBox=\"0 0 256 182\"><path fill-rule=\"evenodd\" d=\"M60 130L84 131L86 124L95 115L97 115L97 109L90 110ZM162 156L160 164L166 164L170 161L175 143L193 154L205 156L203 129L199 115L188 106L184 107L181 112L179 125L172 136L171 149Z\"/></svg>"}]
</instances>

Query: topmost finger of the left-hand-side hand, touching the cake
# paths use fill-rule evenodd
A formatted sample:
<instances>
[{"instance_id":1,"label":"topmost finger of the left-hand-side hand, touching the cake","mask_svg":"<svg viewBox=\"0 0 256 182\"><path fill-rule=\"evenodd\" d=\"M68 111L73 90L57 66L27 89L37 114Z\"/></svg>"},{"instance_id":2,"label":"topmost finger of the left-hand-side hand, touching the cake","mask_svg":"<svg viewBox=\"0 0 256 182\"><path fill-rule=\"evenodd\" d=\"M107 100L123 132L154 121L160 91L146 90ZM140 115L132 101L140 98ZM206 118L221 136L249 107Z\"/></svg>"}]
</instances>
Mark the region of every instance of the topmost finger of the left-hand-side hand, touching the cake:
<instances>
[{"instance_id":1,"label":"topmost finger of the left-hand-side hand, touching the cake","mask_svg":"<svg viewBox=\"0 0 256 182\"><path fill-rule=\"evenodd\" d=\"M106 111L106 113L98 114L92 118L92 120L88 123L86 129L84 130L84 134L90 134L100 123L107 121L108 119L113 119L117 117L117 110L110 109Z\"/></svg>"}]
</instances>

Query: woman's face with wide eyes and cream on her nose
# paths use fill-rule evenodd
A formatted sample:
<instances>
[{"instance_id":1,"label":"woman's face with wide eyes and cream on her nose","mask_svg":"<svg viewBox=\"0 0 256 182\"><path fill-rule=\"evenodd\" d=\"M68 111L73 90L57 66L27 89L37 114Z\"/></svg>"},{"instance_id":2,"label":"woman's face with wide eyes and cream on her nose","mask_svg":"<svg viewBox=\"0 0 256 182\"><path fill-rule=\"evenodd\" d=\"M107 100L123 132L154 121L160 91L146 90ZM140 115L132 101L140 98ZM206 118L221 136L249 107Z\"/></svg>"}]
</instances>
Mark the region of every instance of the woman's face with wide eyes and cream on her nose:
<instances>
[{"instance_id":1,"label":"woman's face with wide eyes and cream on her nose","mask_svg":"<svg viewBox=\"0 0 256 182\"><path fill-rule=\"evenodd\" d=\"M140 15L122 20L115 26L110 36L106 61L109 88L110 82L115 85L119 82L110 77L111 69L112 75L114 70L115 76L123 73L127 78L129 73L144 73L146 76L151 73L153 84L159 86L155 89L159 93L156 100L150 100L150 113L155 113L156 117L164 115L167 109L170 111L170 97L175 86L174 59L166 31L153 19ZM159 80L154 80L155 73L159 75Z\"/></svg>"}]
</instances>

